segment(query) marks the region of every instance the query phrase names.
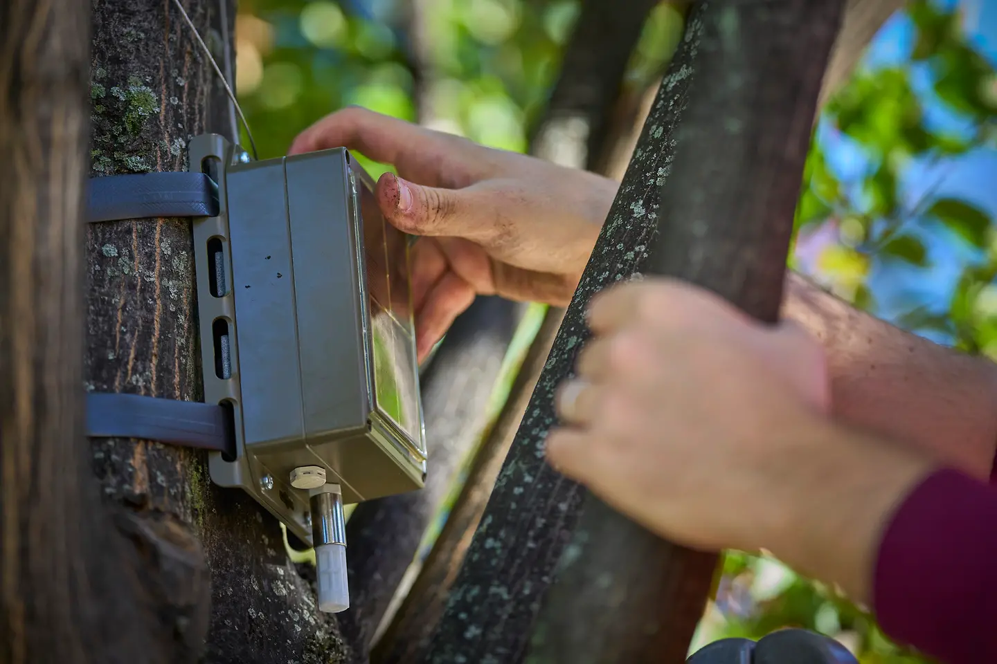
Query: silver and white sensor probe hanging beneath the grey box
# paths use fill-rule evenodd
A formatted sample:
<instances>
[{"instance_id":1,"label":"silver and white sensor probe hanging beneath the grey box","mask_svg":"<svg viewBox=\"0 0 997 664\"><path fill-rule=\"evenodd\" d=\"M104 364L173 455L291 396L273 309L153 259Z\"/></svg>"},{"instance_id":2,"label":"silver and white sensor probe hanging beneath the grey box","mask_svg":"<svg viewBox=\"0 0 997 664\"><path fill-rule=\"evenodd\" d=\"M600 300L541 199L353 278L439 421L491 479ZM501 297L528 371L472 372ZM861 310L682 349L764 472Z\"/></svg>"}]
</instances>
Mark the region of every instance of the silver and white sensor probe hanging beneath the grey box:
<instances>
[{"instance_id":1,"label":"silver and white sensor probe hanging beneath the grey box","mask_svg":"<svg viewBox=\"0 0 997 664\"><path fill-rule=\"evenodd\" d=\"M338 484L312 489L312 544L315 547L315 571L318 608L338 613L350 607L350 588L346 576L346 516Z\"/></svg>"}]
</instances>

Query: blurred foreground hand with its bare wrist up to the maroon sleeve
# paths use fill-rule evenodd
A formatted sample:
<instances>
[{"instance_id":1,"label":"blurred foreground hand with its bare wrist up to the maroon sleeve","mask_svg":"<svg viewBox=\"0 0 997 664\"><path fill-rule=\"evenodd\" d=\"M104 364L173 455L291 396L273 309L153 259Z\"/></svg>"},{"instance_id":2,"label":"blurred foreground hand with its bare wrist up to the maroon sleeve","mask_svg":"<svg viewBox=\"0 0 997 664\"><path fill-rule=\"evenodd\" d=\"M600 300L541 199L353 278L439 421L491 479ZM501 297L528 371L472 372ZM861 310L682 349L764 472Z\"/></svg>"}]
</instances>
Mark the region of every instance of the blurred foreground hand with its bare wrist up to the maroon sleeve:
<instances>
[{"instance_id":1,"label":"blurred foreground hand with its bare wrist up to the maroon sleeve","mask_svg":"<svg viewBox=\"0 0 997 664\"><path fill-rule=\"evenodd\" d=\"M597 295L589 327L555 468L678 544L768 549L866 598L880 529L933 464L831 421L815 338L658 279Z\"/></svg>"}]
</instances>

